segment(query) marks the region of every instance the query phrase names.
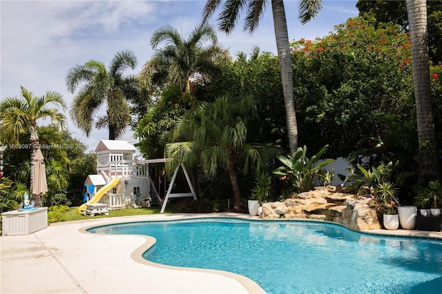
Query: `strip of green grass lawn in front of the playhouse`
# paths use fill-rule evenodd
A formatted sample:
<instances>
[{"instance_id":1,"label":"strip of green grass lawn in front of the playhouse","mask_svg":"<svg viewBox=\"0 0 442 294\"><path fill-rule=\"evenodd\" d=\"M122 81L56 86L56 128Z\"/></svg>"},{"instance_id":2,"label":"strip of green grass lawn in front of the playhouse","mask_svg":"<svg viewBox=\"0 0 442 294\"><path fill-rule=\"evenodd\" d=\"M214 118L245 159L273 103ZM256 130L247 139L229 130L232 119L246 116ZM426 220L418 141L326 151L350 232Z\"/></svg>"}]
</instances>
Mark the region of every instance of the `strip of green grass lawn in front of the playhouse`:
<instances>
[{"instance_id":1,"label":"strip of green grass lawn in front of the playhouse","mask_svg":"<svg viewBox=\"0 0 442 294\"><path fill-rule=\"evenodd\" d=\"M161 206L152 206L149 208L125 208L125 209L117 209L117 210L111 210L109 211L109 215L95 215L94 217L91 217L89 215L79 215L77 213L76 207L70 207L68 211L64 212L64 222L69 222L73 220L79 220L79 219L90 219L90 218L102 218L102 217L124 217L128 215L155 215L159 214L161 210ZM164 210L164 213L177 213L178 210L176 208L176 205L174 203L169 203L166 206L166 210ZM57 222L56 219L54 219L55 222ZM52 222L52 221L51 221Z\"/></svg>"}]
</instances>

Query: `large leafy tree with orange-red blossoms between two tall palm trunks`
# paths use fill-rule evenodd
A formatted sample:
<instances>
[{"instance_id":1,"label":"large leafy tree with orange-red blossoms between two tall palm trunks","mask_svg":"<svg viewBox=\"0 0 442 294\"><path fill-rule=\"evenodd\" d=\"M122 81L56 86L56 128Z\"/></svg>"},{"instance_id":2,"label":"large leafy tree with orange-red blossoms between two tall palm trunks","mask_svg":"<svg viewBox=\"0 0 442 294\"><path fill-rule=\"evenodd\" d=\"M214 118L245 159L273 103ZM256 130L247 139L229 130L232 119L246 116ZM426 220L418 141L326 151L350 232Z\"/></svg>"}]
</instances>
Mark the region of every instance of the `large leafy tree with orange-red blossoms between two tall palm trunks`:
<instances>
[{"instance_id":1,"label":"large leafy tree with orange-red blossoms between two tall palm trunks","mask_svg":"<svg viewBox=\"0 0 442 294\"><path fill-rule=\"evenodd\" d=\"M377 113L415 121L409 37L399 26L374 25L353 18L326 37L291 43L301 144L325 141L329 156L347 156L389 132ZM416 140L407 135L403 148L412 152Z\"/></svg>"}]
</instances>

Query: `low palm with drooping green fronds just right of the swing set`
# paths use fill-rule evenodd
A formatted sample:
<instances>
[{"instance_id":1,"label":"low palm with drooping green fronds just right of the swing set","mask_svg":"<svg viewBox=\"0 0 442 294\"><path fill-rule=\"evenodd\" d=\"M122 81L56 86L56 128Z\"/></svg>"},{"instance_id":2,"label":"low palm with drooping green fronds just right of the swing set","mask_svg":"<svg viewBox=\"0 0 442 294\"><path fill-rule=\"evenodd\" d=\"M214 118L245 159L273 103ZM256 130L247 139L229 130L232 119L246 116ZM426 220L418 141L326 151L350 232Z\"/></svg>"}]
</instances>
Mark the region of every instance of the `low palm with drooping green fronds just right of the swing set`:
<instances>
[{"instance_id":1,"label":"low palm with drooping green fronds just right of the swing set","mask_svg":"<svg viewBox=\"0 0 442 294\"><path fill-rule=\"evenodd\" d=\"M177 122L174 139L180 141L166 146L168 164L200 164L209 177L215 177L222 168L230 177L236 210L241 202L238 171L246 173L254 168L259 173L269 155L278 153L276 148L246 143L249 115L256 115L256 102L251 96L201 102Z\"/></svg>"}]
</instances>

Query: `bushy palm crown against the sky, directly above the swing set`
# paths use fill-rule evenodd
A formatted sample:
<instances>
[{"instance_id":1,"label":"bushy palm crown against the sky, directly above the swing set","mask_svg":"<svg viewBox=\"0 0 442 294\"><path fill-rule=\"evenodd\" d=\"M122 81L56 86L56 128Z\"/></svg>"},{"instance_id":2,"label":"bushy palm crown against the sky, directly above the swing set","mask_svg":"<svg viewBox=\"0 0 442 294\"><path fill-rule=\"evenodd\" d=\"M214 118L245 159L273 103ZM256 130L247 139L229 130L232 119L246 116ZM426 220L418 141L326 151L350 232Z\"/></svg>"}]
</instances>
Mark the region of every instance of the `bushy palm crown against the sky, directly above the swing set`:
<instances>
[{"instance_id":1,"label":"bushy palm crown against the sky, directly above the swing set","mask_svg":"<svg viewBox=\"0 0 442 294\"><path fill-rule=\"evenodd\" d=\"M229 59L229 51L218 45L212 26L195 28L188 39L171 26L162 26L153 33L151 46L156 49L153 58L144 64L142 84L149 90L164 84L176 84L182 93L190 92L190 81L198 75L211 77L220 72L220 63Z\"/></svg>"}]
</instances>

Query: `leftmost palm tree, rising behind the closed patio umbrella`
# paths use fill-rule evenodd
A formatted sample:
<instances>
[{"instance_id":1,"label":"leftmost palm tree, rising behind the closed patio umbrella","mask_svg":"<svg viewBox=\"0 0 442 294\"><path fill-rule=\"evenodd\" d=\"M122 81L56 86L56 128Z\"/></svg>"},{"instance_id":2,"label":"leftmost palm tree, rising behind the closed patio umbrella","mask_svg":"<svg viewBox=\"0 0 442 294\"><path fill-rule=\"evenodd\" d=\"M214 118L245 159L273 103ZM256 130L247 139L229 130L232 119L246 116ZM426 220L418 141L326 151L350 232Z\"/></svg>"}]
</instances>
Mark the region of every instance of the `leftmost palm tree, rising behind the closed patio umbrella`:
<instances>
[{"instance_id":1,"label":"leftmost palm tree, rising behind the closed patio umbrella","mask_svg":"<svg viewBox=\"0 0 442 294\"><path fill-rule=\"evenodd\" d=\"M48 117L52 123L60 128L66 125L66 117L57 108L66 110L63 96L57 92L46 92L46 95L36 97L23 86L21 97L8 97L0 104L1 133L8 144L19 144L19 137L23 133L30 133L31 159L39 148L39 136L37 134L39 119ZM50 105L57 108L50 108ZM30 190L34 175L35 161L31 160L30 166ZM41 206L40 197L32 195L35 206Z\"/></svg>"}]
</instances>

